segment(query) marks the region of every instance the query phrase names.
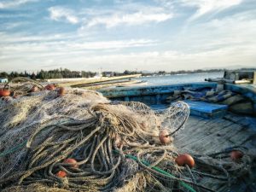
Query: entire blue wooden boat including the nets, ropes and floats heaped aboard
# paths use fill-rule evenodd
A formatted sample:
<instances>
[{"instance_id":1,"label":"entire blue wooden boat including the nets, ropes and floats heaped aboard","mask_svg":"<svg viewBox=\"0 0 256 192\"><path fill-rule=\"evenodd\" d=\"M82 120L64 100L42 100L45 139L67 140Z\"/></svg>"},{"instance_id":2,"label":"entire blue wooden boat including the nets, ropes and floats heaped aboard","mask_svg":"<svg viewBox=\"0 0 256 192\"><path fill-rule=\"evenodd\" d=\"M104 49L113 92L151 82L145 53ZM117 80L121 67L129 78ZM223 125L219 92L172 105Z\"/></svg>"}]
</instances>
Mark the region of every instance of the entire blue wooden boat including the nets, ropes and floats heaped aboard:
<instances>
[{"instance_id":1,"label":"entire blue wooden boat including the nets, ropes and floats heaped aboard","mask_svg":"<svg viewBox=\"0 0 256 192\"><path fill-rule=\"evenodd\" d=\"M0 189L253 192L256 82L239 76L98 92L5 84L18 97L2 97Z\"/></svg>"}]
</instances>

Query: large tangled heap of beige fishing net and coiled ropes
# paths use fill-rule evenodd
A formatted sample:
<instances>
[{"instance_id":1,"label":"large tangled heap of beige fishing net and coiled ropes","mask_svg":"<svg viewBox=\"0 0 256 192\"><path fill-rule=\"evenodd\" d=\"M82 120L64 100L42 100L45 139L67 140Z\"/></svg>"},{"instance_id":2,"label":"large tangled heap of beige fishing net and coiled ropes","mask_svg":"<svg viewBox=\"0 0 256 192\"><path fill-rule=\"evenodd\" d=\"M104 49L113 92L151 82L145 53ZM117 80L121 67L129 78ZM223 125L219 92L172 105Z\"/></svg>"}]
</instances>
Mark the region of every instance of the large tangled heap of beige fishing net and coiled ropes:
<instances>
[{"instance_id":1,"label":"large tangled heap of beige fishing net and coiled ropes","mask_svg":"<svg viewBox=\"0 0 256 192\"><path fill-rule=\"evenodd\" d=\"M155 112L140 102L110 102L79 89L1 100L0 189L213 191L200 183L202 177L229 188L248 172L250 158L243 153L230 161L226 151L186 159L172 136L188 117L184 102Z\"/></svg>"}]
</instances>

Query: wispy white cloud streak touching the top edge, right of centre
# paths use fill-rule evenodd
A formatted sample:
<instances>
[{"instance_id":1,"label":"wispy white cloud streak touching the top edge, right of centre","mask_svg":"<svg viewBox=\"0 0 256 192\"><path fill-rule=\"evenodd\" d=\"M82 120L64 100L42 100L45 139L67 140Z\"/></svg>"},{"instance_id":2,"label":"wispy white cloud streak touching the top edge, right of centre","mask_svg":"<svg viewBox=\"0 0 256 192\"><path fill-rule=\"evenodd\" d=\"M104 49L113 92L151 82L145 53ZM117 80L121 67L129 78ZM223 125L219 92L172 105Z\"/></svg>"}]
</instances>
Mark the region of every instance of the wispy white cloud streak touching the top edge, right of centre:
<instances>
[{"instance_id":1,"label":"wispy white cloud streak touching the top edge, right of centre","mask_svg":"<svg viewBox=\"0 0 256 192\"><path fill-rule=\"evenodd\" d=\"M212 12L218 12L238 5L243 0L181 0L184 6L196 7L195 15L192 15L189 20L196 20L202 15Z\"/></svg>"}]
</instances>

